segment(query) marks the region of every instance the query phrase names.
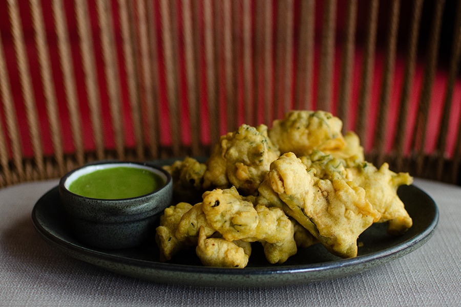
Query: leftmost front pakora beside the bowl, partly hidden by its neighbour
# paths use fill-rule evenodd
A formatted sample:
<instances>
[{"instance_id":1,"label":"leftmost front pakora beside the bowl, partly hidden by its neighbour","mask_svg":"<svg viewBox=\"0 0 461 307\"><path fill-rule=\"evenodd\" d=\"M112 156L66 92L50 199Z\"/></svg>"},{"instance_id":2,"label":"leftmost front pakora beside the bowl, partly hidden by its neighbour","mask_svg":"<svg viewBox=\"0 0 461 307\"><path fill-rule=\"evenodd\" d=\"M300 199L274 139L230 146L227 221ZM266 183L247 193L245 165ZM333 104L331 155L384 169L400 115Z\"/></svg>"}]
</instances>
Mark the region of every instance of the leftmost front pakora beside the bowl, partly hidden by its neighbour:
<instances>
[{"instance_id":1,"label":"leftmost front pakora beside the bowl, partly hidden by its neighbour","mask_svg":"<svg viewBox=\"0 0 461 307\"><path fill-rule=\"evenodd\" d=\"M157 227L155 236L160 248L160 261L170 260L184 248L184 244L176 238L175 233L181 217L191 208L191 204L179 203L166 208L160 216L160 226Z\"/></svg>"}]
</instances>

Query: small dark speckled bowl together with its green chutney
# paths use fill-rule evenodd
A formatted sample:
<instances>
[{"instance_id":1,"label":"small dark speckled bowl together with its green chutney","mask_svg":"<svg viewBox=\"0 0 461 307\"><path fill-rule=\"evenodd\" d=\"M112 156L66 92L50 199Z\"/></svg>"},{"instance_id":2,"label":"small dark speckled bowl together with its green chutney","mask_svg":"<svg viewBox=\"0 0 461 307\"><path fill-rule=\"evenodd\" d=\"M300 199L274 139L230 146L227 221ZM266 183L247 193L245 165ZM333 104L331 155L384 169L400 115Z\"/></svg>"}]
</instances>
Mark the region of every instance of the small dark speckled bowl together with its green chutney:
<instances>
[{"instance_id":1,"label":"small dark speckled bowl together with its green chutney","mask_svg":"<svg viewBox=\"0 0 461 307\"><path fill-rule=\"evenodd\" d=\"M59 182L59 197L76 238L93 247L134 247L154 236L155 224L171 205L170 174L137 162L97 162Z\"/></svg>"}]
</instances>

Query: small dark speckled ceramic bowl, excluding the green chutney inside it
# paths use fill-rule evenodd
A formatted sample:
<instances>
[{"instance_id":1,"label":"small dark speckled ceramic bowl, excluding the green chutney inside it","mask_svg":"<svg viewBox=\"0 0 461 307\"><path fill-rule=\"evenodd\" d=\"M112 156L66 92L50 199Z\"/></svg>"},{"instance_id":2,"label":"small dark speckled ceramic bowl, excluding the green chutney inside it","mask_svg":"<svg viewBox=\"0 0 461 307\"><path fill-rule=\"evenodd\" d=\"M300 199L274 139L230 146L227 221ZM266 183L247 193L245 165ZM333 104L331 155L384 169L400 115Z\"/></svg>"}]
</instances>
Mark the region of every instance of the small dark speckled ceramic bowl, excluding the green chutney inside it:
<instances>
[{"instance_id":1,"label":"small dark speckled ceramic bowl, excluding the green chutney inside it","mask_svg":"<svg viewBox=\"0 0 461 307\"><path fill-rule=\"evenodd\" d=\"M104 198L82 196L78 194L81 191L75 192L72 186L72 183L82 176L104 169L112 171L116 168L134 169L135 173L137 170L153 173L155 174L153 177L158 180L158 186L142 195L114 199L110 196L109 198L108 196L103 196ZM124 175L116 177L127 182L134 181ZM96 185L96 187L101 185L96 180L87 181L88 185ZM122 183L124 184L123 181ZM140 245L147 238L153 240L156 220L163 210L171 205L172 195L173 183L170 174L148 163L90 164L67 173L59 182L60 202L67 212L72 233L81 242L102 249L130 248Z\"/></svg>"}]
</instances>

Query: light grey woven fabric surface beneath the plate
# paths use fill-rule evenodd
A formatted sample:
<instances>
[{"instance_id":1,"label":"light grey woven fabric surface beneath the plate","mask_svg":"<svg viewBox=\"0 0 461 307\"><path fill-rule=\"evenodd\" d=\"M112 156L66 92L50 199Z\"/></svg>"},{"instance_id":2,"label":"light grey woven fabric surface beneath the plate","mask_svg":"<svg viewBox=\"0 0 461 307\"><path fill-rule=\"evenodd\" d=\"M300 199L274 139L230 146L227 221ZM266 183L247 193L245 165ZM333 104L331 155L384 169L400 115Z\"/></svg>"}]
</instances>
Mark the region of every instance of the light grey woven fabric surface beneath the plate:
<instances>
[{"instance_id":1,"label":"light grey woven fabric surface beneath the plate","mask_svg":"<svg viewBox=\"0 0 461 307\"><path fill-rule=\"evenodd\" d=\"M429 241L385 265L299 286L222 289L160 284L67 256L41 239L31 212L57 180L0 189L0 305L461 306L461 187L415 179L439 209Z\"/></svg>"}]
</instances>

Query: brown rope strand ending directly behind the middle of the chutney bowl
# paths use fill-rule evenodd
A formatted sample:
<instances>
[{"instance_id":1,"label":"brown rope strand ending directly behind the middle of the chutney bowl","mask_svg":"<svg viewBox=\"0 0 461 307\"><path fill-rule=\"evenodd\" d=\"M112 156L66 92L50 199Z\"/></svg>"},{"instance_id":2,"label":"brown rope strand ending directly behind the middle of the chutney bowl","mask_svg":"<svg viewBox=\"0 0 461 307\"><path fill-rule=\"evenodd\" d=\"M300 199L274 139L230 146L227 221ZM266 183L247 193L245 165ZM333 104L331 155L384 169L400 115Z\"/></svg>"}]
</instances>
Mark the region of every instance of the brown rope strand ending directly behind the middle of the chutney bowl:
<instances>
[{"instance_id":1,"label":"brown rope strand ending directly behind the middle of the chutney bowl","mask_svg":"<svg viewBox=\"0 0 461 307\"><path fill-rule=\"evenodd\" d=\"M112 117L112 130L114 131L115 150L118 159L123 160L125 157L123 150L124 130L122 124L120 77L114 42L112 8L109 0L97 0L96 5L101 29L101 47L104 58L107 91L110 99L109 105Z\"/></svg>"}]
</instances>

